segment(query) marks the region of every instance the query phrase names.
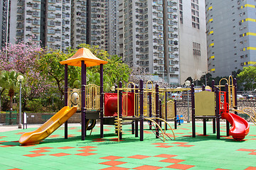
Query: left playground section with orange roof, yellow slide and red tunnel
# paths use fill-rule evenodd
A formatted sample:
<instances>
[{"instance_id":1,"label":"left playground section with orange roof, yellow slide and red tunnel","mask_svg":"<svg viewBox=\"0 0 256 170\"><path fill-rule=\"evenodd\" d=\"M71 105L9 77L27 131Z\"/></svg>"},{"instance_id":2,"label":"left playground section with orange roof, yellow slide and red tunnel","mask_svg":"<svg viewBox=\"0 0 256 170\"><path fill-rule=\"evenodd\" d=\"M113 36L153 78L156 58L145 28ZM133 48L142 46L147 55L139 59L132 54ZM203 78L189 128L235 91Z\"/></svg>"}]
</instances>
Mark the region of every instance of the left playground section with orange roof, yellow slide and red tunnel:
<instances>
[{"instance_id":1,"label":"left playground section with orange roof, yellow slide and red tunnel","mask_svg":"<svg viewBox=\"0 0 256 170\"><path fill-rule=\"evenodd\" d=\"M85 140L86 130L92 130L98 119L100 119L100 137L104 137L103 125L115 125L118 139L122 139L124 120L132 120L132 133L138 137L138 122L140 122L140 140L143 140L143 123L144 120L147 120L149 128L153 130L157 138L163 141L167 138L175 139L171 125L167 123L167 120L174 120L176 128L175 103L167 101L166 89L159 89L157 85L154 89L153 84L151 84L151 89L147 87L143 89L143 81L141 81L139 88L134 84L127 84L127 88L122 88L120 83L116 94L103 94L103 64L107 64L107 62L98 59L86 48L79 49L73 57L60 62L60 64L65 65L65 108L56 113L38 130L23 134L19 140L21 145L37 144L63 123L65 123L65 139L67 139L68 118L76 111L81 113L82 140ZM81 89L68 89L68 65L81 67ZM96 65L100 65L100 86L86 85L86 67ZM128 88L128 86L130 87ZM160 103L159 91L164 94L164 101ZM162 103L163 106L161 106ZM91 120L92 123L89 125ZM162 122L165 123L164 128L161 128ZM168 129L171 129L173 134L171 137L166 134Z\"/></svg>"}]
</instances>

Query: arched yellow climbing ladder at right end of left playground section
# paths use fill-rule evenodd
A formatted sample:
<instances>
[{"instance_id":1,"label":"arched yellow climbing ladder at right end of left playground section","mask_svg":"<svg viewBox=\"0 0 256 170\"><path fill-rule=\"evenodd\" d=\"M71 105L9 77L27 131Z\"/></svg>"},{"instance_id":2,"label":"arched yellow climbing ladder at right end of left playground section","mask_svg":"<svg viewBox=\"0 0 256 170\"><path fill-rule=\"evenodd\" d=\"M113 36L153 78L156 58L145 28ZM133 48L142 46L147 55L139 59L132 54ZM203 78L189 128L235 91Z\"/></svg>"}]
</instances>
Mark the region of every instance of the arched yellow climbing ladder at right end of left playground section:
<instances>
[{"instance_id":1,"label":"arched yellow climbing ladder at right end of left playground section","mask_svg":"<svg viewBox=\"0 0 256 170\"><path fill-rule=\"evenodd\" d=\"M158 137L160 140L162 140L163 142L165 142L165 140L172 140L171 137L166 133L166 130L162 129L160 127L160 125L158 123L156 123L156 121L154 121L154 119L158 119L163 121L164 123L166 123L169 128L171 129L172 135L174 137L175 140L175 135L174 135L174 130L171 128L171 125L169 125L169 123L166 122L166 120L162 119L162 118L144 118L145 120L148 120L149 123L149 128L152 130L152 132L154 132L154 135L156 135L156 137ZM167 139L167 137L169 139Z\"/></svg>"}]
</instances>

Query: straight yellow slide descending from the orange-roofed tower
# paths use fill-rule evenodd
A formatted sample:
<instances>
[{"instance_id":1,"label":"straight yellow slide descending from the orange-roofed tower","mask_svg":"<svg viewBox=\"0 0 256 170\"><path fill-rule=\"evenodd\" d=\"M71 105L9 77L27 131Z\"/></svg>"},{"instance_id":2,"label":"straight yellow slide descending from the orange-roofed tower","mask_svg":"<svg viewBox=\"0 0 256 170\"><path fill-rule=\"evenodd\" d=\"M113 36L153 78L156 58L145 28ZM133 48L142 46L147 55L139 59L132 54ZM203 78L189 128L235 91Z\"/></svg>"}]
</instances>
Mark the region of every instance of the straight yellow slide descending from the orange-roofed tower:
<instances>
[{"instance_id":1,"label":"straight yellow slide descending from the orange-roofed tower","mask_svg":"<svg viewBox=\"0 0 256 170\"><path fill-rule=\"evenodd\" d=\"M49 120L46 121L40 128L32 132L26 132L21 135L18 142L21 145L35 145L41 140L46 139L50 134L52 134L56 129L60 127L65 121L67 121L73 114L77 111L76 107L69 108L65 106L58 113L53 115Z\"/></svg>"}]
</instances>

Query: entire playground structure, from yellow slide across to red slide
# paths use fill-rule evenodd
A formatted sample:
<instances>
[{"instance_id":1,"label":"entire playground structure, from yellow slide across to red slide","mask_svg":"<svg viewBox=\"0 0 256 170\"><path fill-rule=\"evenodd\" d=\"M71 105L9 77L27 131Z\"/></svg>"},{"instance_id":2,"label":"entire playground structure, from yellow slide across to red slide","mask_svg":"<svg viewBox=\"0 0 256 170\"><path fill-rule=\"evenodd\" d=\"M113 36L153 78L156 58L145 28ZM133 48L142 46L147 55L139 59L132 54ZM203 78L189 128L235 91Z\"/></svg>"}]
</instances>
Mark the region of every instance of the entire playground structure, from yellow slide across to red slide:
<instances>
[{"instance_id":1,"label":"entire playground structure, from yellow slide across to red slide","mask_svg":"<svg viewBox=\"0 0 256 170\"><path fill-rule=\"evenodd\" d=\"M228 106L231 105L227 104L228 102L226 100L228 97L225 97L224 103L220 103L220 93L218 92L218 87L216 89L214 85L212 89L213 91L215 89L215 92L202 91L200 92L202 94L198 93L199 97L196 97L196 100L195 88L193 87L193 84L191 88L161 89L159 88L158 84L154 86L153 82L148 81L146 82L146 88L144 88L144 82L142 80L140 81L139 86L130 82L125 87L123 87L122 83L120 82L118 88L116 88L116 93L104 94L103 64L107 64L107 62L95 57L95 55L93 55L90 50L81 48L78 50L78 52L75 53L75 55L73 55L73 57L60 62L60 64L65 65L65 107L67 107L67 109L70 108L72 111L79 111L81 113L81 140L85 140L86 131L92 130L96 120L99 119L100 137L104 137L104 125L114 125L115 132L117 132L118 135L118 141L121 140L122 125L125 120L129 120L132 121L132 134L135 134L135 137L138 137L139 132L139 139L143 141L144 120L146 120L149 123L149 129L154 132L156 138L159 138L163 141L169 139L175 140L174 131L172 130L171 125L167 123L167 121L174 120L174 126L177 128L176 101L172 101L168 98L169 93L176 91L191 91L193 137L196 137L196 118L203 118L204 135L206 134L206 119L212 118L213 132L215 133L216 122L217 138L220 138L220 116L221 113L228 113ZM68 65L81 67L81 89L68 89ZM97 65L100 65L100 86L95 84L86 84L86 67ZM233 96L236 100L235 89L228 88L228 90L232 91L232 93L234 91ZM226 92L225 94L228 96L228 94L230 95L231 93ZM205 100L210 98L210 101L198 101L198 98L204 98ZM233 100L230 101L232 102ZM204 104L210 103L210 107L200 105L202 102ZM214 106L215 103L216 105ZM205 110L200 112L200 110L198 110L200 107L205 108ZM38 128L38 130L23 134L19 142L21 145L38 144L38 142L45 139L63 123L65 123L65 139L67 139L68 118L73 115L68 113L66 114L66 112L60 110L60 112L56 113L53 118L50 118L44 125L42 125L41 128ZM201 114L198 115L198 113ZM60 118L62 115L65 115L65 121L63 121L64 119ZM54 118L57 119L55 120ZM223 118L226 118L238 129L241 128L238 126L238 120L240 120L240 117L234 120L235 116L229 114L223 116ZM162 123L164 123L164 128L162 128ZM242 124L245 125L244 122ZM227 129L228 127L229 126L227 124ZM168 129L171 130L172 135L166 133L166 130ZM247 132L249 132L249 128L247 128L247 131L244 132L244 135L242 136L244 137L247 135ZM33 138L34 133L38 133L38 136ZM235 135L233 135L233 137L234 136ZM234 138L240 139L242 137L238 137L238 135L236 135Z\"/></svg>"}]
</instances>

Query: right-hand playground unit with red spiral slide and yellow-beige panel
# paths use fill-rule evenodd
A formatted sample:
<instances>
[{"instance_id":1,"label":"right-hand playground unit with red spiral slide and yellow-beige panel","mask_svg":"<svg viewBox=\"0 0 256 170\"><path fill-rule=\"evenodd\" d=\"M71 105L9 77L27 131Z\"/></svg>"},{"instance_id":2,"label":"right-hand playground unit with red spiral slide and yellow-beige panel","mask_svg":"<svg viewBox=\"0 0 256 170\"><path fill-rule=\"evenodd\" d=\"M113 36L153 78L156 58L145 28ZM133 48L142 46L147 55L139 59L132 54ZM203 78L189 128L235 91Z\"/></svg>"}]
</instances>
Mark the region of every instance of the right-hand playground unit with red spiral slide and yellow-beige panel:
<instances>
[{"instance_id":1,"label":"right-hand playground unit with red spiral slide and yellow-beige panel","mask_svg":"<svg viewBox=\"0 0 256 170\"><path fill-rule=\"evenodd\" d=\"M193 137L196 137L196 118L203 119L203 135L206 135L206 120L213 119L213 133L217 129L217 138L220 139L220 118L228 120L226 122L227 136L232 135L233 139L242 140L248 134L249 124L237 115L236 80L233 80L232 77L225 80L227 81L225 85L215 86L213 81L212 91L205 91L203 86L203 91L197 94L195 94L193 85L191 86ZM233 81L235 84L233 84ZM235 111L235 113L230 113L230 110ZM240 112L245 113L244 111ZM250 117L252 122L255 123L255 118ZM229 123L232 125L231 129Z\"/></svg>"}]
</instances>

